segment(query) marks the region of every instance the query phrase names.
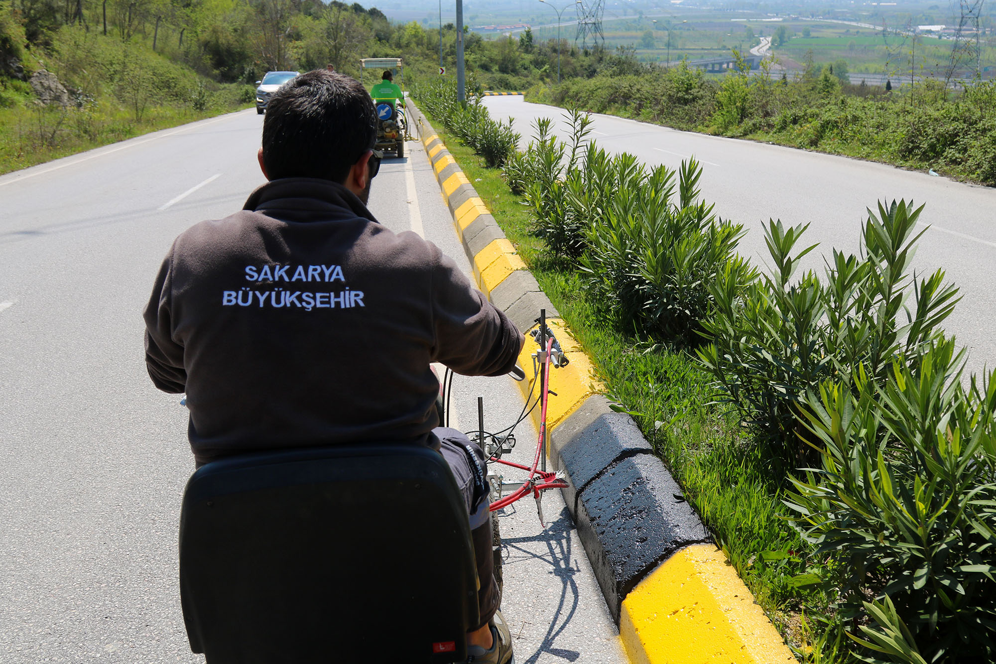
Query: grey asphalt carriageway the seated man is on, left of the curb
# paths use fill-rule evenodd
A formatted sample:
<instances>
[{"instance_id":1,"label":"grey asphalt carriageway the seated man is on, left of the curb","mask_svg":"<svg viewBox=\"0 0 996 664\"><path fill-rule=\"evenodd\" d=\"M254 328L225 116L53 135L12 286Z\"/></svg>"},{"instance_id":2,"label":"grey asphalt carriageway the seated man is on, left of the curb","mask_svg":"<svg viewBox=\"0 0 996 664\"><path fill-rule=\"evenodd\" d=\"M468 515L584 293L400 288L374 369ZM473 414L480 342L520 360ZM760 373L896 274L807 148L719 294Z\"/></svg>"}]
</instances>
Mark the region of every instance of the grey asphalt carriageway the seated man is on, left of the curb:
<instances>
[{"instance_id":1,"label":"grey asphalt carriageway the seated man is on, left of the curb","mask_svg":"<svg viewBox=\"0 0 996 664\"><path fill-rule=\"evenodd\" d=\"M263 182L261 123L245 111L0 176L2 664L203 661L176 582L186 416L145 373L141 310L173 237ZM407 149L381 166L373 213L469 272L421 146ZM489 429L521 408L509 378L456 390L465 429L478 395ZM535 431L519 433L524 459ZM563 504L545 500L546 529L520 504L500 516L518 661L623 661Z\"/></svg>"}]
</instances>

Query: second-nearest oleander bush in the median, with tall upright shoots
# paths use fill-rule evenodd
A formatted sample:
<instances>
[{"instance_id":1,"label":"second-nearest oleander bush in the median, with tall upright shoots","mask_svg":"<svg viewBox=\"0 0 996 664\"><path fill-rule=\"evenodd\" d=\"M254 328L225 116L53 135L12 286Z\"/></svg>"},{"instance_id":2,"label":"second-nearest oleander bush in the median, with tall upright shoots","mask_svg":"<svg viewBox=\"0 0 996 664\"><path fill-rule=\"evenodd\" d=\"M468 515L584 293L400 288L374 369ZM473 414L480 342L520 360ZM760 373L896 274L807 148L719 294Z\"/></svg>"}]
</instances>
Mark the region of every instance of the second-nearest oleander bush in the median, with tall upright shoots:
<instances>
[{"instance_id":1,"label":"second-nearest oleander bush in the median, with tall upright shoots","mask_svg":"<svg viewBox=\"0 0 996 664\"><path fill-rule=\"evenodd\" d=\"M796 251L805 225L770 221L765 240L774 273L742 287L711 285L715 315L704 323L710 344L698 351L723 399L735 404L772 463L803 462L812 437L800 418L806 395L827 380L883 382L895 362L932 343L957 302L938 270L910 275L922 206L905 201L869 210L860 255L834 251L823 281L814 271L793 276L816 245ZM903 320L904 319L904 320Z\"/></svg>"}]
</instances>

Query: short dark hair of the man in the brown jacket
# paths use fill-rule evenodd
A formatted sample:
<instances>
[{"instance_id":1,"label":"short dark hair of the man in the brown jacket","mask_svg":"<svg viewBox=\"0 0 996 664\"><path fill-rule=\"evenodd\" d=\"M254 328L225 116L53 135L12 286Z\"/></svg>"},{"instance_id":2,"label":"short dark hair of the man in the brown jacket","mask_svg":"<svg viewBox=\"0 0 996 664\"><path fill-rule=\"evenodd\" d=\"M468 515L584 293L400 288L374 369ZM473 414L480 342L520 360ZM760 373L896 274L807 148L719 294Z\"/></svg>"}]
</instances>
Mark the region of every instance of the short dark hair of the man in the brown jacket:
<instances>
[{"instance_id":1,"label":"short dark hair of the man in the brown jacket","mask_svg":"<svg viewBox=\"0 0 996 664\"><path fill-rule=\"evenodd\" d=\"M376 143L373 101L359 81L324 69L285 83L263 120L263 164L270 179L346 181Z\"/></svg>"}]
</instances>

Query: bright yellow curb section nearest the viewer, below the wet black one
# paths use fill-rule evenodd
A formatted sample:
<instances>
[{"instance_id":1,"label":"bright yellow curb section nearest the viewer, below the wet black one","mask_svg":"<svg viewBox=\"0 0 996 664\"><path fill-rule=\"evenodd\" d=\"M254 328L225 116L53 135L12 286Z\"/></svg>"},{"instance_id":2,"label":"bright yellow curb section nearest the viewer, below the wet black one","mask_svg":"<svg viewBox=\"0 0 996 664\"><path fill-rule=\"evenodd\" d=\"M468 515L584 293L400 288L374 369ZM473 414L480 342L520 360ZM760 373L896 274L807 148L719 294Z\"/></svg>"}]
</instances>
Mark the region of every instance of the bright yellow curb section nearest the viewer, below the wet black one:
<instances>
[{"instance_id":1,"label":"bright yellow curb section nearest the viewer, below the wet black one","mask_svg":"<svg viewBox=\"0 0 996 664\"><path fill-rule=\"evenodd\" d=\"M626 595L620 637L634 664L796 664L712 544L681 549Z\"/></svg>"}]
</instances>

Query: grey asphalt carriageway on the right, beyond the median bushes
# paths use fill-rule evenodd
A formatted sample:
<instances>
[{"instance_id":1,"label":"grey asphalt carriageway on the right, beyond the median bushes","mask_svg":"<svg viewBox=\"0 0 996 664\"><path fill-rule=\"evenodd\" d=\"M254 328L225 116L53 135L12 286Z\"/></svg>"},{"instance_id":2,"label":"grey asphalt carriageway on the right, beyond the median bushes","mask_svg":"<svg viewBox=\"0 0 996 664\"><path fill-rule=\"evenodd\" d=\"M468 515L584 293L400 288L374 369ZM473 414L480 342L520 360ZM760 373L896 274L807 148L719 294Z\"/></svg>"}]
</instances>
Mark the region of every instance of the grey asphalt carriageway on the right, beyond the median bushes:
<instances>
[{"instance_id":1,"label":"grey asphalt carriageway on the right, beyond the median bushes","mask_svg":"<svg viewBox=\"0 0 996 664\"><path fill-rule=\"evenodd\" d=\"M525 148L538 118L560 119L562 109L527 104L521 97L486 97L496 120L515 119ZM702 164L702 196L723 218L748 229L740 252L768 265L763 224L809 223L799 248L819 242L803 260L823 272L832 248L857 252L867 207L905 198L925 203L914 267L938 268L961 289L962 300L945 328L969 349L968 368L996 367L996 188L963 184L922 172L781 146L679 132L633 120L596 115L591 138L612 153L678 167L694 156ZM562 136L566 125L558 124Z\"/></svg>"}]
</instances>

